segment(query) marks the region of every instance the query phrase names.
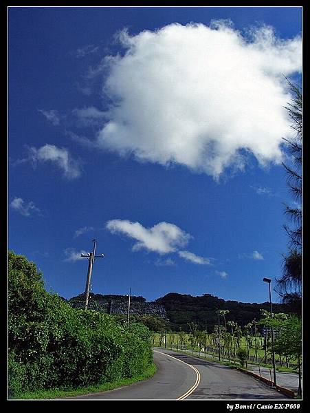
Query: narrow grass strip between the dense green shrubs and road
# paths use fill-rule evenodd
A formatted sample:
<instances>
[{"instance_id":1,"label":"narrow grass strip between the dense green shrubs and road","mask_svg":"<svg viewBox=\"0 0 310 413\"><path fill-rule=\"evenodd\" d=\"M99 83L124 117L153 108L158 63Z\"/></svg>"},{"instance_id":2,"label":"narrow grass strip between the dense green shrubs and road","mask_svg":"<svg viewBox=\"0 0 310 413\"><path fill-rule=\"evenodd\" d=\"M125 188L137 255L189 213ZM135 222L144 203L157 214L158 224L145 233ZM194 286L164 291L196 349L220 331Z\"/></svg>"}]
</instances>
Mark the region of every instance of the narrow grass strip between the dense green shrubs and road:
<instances>
[{"instance_id":1,"label":"narrow grass strip between the dense green shrubs and road","mask_svg":"<svg viewBox=\"0 0 310 413\"><path fill-rule=\"evenodd\" d=\"M56 388L50 390L38 390L36 392L26 392L23 394L19 394L18 396L14 396L11 399L14 400L34 400L34 399L59 399L68 396L80 396L81 394L88 394L88 393L97 393L97 392L106 392L107 390L113 390L116 388L123 387L125 385L131 385L133 383L137 383L137 381L143 381L146 379L150 379L153 375L157 372L157 367L155 364L151 364L148 370L144 372L144 374L140 374L136 377L131 377L130 379L120 379L117 381L113 381L110 383L103 383L97 385L91 385L88 387L80 387L80 388Z\"/></svg>"}]
</instances>

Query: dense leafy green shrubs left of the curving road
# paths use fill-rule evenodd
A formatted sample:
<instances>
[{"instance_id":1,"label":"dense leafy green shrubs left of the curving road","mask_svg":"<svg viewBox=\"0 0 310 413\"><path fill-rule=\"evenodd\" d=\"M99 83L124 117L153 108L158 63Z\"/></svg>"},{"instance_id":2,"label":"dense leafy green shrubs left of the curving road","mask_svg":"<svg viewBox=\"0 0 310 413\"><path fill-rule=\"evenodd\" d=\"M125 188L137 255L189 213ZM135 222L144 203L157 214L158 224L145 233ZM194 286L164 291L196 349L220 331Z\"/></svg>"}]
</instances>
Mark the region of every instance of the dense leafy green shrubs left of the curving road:
<instances>
[{"instance_id":1,"label":"dense leafy green shrubs left of the curving road","mask_svg":"<svg viewBox=\"0 0 310 413\"><path fill-rule=\"evenodd\" d=\"M35 264L11 251L8 278L10 396L130 378L153 362L145 326L71 308L47 293Z\"/></svg>"}]
</instances>

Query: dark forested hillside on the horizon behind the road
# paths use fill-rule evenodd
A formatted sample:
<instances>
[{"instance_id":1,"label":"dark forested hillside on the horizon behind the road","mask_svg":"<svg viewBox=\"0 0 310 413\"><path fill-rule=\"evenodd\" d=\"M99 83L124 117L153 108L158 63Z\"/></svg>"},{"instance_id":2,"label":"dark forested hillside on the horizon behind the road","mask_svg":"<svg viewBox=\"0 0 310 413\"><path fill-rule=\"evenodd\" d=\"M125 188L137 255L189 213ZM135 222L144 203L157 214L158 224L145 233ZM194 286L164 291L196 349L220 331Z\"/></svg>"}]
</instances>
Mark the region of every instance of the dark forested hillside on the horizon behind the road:
<instances>
[{"instance_id":1,"label":"dark forested hillside on the horizon behind the road","mask_svg":"<svg viewBox=\"0 0 310 413\"><path fill-rule=\"evenodd\" d=\"M124 295L90 295L89 308L99 310L102 313L113 315L126 315L128 312L128 297ZM84 294L69 299L71 306L84 306ZM142 296L131 297L131 315L137 317L148 316L162 319L157 324L161 329L165 319L170 330L188 330L188 324L194 322L201 330L211 331L217 324L217 309L229 310L228 321L234 321L243 327L250 321L261 317L261 308L269 310L269 302L243 303L239 301L221 299L211 294L203 294L193 297L188 294L168 293L155 301L147 302ZM273 304L274 313L298 313L296 308L290 308L286 304ZM149 320L148 320L149 321ZM146 325L149 326L149 322ZM144 321L145 322L145 319ZM162 327L160 327L162 326Z\"/></svg>"}]
</instances>

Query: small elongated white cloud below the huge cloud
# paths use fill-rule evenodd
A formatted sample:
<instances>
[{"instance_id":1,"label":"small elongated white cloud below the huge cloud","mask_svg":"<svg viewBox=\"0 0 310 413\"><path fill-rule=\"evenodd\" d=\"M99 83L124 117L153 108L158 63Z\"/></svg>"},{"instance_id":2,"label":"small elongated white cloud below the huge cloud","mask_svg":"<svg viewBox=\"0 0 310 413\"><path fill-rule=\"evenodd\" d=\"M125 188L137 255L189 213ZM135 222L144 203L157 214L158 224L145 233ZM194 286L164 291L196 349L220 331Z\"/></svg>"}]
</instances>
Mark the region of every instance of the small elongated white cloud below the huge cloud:
<instances>
[{"instance_id":1,"label":"small elongated white cloud below the huge cloud","mask_svg":"<svg viewBox=\"0 0 310 413\"><path fill-rule=\"evenodd\" d=\"M152 228L145 228L139 222L129 220L110 220L106 227L111 233L124 234L137 242L133 251L146 249L159 254L172 253L188 243L190 235L179 229L175 224L159 222Z\"/></svg>"}]
</instances>

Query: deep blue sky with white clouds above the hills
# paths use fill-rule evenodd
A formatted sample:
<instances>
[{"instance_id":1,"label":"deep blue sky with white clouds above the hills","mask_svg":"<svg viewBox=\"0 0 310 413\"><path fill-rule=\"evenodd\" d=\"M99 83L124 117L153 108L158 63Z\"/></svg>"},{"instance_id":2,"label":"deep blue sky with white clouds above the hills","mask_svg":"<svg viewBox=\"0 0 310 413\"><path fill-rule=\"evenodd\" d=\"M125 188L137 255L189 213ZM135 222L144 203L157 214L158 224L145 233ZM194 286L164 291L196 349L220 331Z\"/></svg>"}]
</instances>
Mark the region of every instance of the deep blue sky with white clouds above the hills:
<instances>
[{"instance_id":1,"label":"deep blue sky with white clouds above the hills","mask_svg":"<svg viewBox=\"0 0 310 413\"><path fill-rule=\"evenodd\" d=\"M96 238L94 293L267 301L300 34L298 7L11 7L9 248L66 298Z\"/></svg>"}]
</instances>

